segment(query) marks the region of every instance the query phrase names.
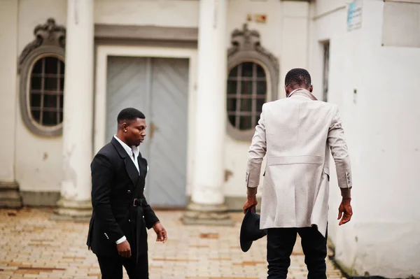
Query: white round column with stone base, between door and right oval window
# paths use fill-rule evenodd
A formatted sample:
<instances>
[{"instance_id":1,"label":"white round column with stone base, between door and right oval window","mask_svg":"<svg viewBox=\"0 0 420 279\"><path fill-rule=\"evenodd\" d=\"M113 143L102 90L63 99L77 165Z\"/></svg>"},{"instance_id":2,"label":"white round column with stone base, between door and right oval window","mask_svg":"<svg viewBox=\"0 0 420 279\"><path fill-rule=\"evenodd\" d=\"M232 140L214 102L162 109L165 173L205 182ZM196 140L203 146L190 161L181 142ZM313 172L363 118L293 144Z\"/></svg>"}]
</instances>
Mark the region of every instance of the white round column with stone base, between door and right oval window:
<instances>
[{"instance_id":1,"label":"white round column with stone base, between door and right oval window","mask_svg":"<svg viewBox=\"0 0 420 279\"><path fill-rule=\"evenodd\" d=\"M227 0L200 0L193 194L185 224L232 224L223 195Z\"/></svg>"}]
</instances>

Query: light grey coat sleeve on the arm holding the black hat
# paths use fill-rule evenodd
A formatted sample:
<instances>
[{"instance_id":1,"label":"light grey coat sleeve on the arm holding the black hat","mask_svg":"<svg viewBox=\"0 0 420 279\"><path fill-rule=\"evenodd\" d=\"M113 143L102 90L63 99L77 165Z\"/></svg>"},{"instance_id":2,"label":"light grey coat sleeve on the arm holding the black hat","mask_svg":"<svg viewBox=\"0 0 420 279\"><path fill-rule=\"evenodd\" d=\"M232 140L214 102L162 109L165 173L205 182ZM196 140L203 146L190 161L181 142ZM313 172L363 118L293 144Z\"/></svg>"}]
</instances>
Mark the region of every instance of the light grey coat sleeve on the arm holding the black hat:
<instances>
[{"instance_id":1,"label":"light grey coat sleeve on the arm holding the black hat","mask_svg":"<svg viewBox=\"0 0 420 279\"><path fill-rule=\"evenodd\" d=\"M265 104L262 105L260 120L255 127L251 146L248 149L248 163L246 165L246 189L248 196L257 194L258 184L260 183L260 173L262 159L267 152L267 142L265 136Z\"/></svg>"}]
</instances>

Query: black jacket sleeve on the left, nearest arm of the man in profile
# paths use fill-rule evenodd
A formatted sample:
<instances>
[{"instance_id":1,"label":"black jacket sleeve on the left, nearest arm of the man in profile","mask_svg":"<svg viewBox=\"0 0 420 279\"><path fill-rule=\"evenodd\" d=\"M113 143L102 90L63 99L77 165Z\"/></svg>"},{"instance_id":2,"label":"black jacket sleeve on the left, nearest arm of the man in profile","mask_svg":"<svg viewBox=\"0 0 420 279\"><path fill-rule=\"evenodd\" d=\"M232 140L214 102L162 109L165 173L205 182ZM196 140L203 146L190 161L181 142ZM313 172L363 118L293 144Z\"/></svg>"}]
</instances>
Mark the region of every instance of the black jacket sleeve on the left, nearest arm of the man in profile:
<instances>
[{"instance_id":1,"label":"black jacket sleeve on the left, nearest arm of the man in profile","mask_svg":"<svg viewBox=\"0 0 420 279\"><path fill-rule=\"evenodd\" d=\"M92 171L92 207L95 219L102 224L103 233L115 243L124 236L123 230L116 221L110 203L113 168L108 157L98 154L90 165Z\"/></svg>"}]
</instances>

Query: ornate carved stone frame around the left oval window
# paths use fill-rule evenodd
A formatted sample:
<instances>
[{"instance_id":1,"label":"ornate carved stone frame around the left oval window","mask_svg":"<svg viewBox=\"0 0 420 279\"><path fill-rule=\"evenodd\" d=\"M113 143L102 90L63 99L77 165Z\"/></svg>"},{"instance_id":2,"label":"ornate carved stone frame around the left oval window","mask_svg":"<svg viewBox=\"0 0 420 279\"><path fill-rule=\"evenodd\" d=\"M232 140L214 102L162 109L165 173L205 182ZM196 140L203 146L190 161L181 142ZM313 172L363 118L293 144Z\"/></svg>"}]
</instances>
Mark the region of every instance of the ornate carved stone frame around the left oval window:
<instances>
[{"instance_id":1,"label":"ornate carved stone frame around the left oval window","mask_svg":"<svg viewBox=\"0 0 420 279\"><path fill-rule=\"evenodd\" d=\"M45 24L38 24L35 27L34 36L34 41L31 41L31 43L25 46L19 57L20 113L23 122L32 133L39 136L60 136L62 134L62 122L52 127L46 127L32 118L29 90L32 69L39 59L43 57L56 57L62 60L62 62L65 62L66 29L62 25L55 24L53 18L49 18Z\"/></svg>"}]
</instances>

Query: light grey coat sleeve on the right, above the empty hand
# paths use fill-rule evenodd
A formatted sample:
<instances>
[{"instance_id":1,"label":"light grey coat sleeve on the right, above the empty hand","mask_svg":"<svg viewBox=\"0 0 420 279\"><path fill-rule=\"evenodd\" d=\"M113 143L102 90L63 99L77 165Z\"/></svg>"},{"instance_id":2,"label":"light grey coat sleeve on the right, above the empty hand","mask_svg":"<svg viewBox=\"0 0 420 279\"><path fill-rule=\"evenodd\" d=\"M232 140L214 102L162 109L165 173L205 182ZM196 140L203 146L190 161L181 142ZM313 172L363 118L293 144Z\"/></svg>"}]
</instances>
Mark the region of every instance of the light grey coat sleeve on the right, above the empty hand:
<instances>
[{"instance_id":1,"label":"light grey coat sleeve on the right, above the empty hand","mask_svg":"<svg viewBox=\"0 0 420 279\"><path fill-rule=\"evenodd\" d=\"M351 188L351 163L344 138L342 120L339 117L338 108L335 106L332 122L328 130L328 145L330 145L332 158L334 158L335 169L337 170L338 186L340 188Z\"/></svg>"}]
</instances>

